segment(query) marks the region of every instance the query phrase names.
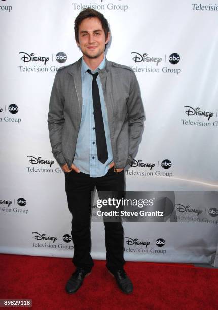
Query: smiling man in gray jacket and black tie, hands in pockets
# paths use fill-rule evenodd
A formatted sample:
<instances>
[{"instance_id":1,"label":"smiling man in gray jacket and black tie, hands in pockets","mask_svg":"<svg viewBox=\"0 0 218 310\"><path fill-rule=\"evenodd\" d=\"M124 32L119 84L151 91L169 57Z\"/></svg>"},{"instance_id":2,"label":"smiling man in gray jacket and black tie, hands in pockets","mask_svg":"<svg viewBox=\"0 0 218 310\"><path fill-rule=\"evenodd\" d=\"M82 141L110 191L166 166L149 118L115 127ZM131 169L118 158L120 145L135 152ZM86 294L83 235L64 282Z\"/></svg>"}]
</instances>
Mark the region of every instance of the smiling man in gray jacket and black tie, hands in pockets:
<instances>
[{"instance_id":1,"label":"smiling man in gray jacket and black tie, hands in pockets","mask_svg":"<svg viewBox=\"0 0 218 310\"><path fill-rule=\"evenodd\" d=\"M105 58L110 40L107 20L85 9L75 19L75 38L83 54L57 71L48 124L52 153L65 173L68 207L72 213L73 263L66 284L75 293L93 267L90 255L90 193L124 191L124 168L139 144L144 112L134 72ZM104 222L106 267L120 289L133 285L123 266L122 223Z\"/></svg>"}]
</instances>

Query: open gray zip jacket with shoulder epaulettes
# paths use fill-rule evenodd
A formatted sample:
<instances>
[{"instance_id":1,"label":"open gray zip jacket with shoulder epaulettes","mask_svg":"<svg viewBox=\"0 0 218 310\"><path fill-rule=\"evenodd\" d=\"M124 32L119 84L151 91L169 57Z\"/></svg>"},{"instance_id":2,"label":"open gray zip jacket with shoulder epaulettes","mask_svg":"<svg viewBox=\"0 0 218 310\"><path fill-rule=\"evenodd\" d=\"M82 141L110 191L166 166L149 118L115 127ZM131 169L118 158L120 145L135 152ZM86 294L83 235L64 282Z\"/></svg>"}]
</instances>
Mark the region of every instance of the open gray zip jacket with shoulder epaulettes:
<instances>
[{"instance_id":1,"label":"open gray zip jacket with shoulder epaulettes","mask_svg":"<svg viewBox=\"0 0 218 310\"><path fill-rule=\"evenodd\" d=\"M57 71L48 113L52 153L60 166L67 163L69 168L82 115L81 59ZM133 159L145 119L139 85L132 69L107 59L99 76L115 167L124 168Z\"/></svg>"}]
</instances>

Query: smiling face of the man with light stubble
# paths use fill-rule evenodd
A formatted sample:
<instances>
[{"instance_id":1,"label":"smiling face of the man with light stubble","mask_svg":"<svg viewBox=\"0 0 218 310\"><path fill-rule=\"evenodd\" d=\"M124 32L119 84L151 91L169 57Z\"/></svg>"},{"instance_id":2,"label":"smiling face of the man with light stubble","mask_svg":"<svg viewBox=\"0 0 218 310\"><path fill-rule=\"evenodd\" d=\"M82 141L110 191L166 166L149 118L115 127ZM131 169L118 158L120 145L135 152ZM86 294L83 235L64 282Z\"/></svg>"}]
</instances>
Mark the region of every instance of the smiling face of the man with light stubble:
<instances>
[{"instance_id":1,"label":"smiling face of the man with light stubble","mask_svg":"<svg viewBox=\"0 0 218 310\"><path fill-rule=\"evenodd\" d=\"M85 18L79 26L80 49L88 58L98 58L103 55L105 44L109 41L110 36L105 38L101 22L97 17Z\"/></svg>"}]
</instances>

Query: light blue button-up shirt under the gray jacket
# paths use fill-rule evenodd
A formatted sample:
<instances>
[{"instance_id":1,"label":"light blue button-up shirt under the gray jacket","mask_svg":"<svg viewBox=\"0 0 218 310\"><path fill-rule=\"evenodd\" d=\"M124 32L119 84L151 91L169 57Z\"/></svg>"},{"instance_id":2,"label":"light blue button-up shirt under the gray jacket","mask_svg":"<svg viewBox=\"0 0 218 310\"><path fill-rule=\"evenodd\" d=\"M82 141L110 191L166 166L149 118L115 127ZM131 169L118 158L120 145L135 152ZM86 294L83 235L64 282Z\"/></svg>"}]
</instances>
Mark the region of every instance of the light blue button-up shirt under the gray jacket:
<instances>
[{"instance_id":1,"label":"light blue button-up shirt under the gray jacket","mask_svg":"<svg viewBox=\"0 0 218 310\"><path fill-rule=\"evenodd\" d=\"M81 78L83 106L73 163L79 168L81 172L90 174L90 177L100 177L105 175L109 169L109 164L113 162L107 110L104 102L103 89L99 75L97 76L97 84L101 101L101 111L104 122L108 159L104 164L102 164L97 157L95 120L92 100L92 75L87 72L87 70L90 69L92 73L96 73L104 67L105 56L95 71L92 71L82 58Z\"/></svg>"}]
</instances>

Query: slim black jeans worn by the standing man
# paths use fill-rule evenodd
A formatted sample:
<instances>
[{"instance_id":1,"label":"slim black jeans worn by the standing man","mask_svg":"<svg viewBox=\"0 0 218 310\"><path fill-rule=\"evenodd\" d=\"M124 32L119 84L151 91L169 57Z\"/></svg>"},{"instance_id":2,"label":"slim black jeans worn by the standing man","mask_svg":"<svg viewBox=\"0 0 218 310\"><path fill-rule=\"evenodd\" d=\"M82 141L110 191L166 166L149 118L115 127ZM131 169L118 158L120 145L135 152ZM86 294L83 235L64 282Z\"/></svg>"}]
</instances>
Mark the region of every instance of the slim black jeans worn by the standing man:
<instances>
[{"instance_id":1,"label":"slim black jeans worn by the standing man","mask_svg":"<svg viewBox=\"0 0 218 310\"><path fill-rule=\"evenodd\" d=\"M76 267L90 271L94 265L91 251L90 215L91 191L124 191L124 170L114 172L114 167L102 177L92 178L83 172L65 173L65 188L69 211L72 213L72 241ZM125 264L124 231L121 221L105 222L106 267L114 272Z\"/></svg>"}]
</instances>

